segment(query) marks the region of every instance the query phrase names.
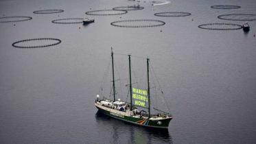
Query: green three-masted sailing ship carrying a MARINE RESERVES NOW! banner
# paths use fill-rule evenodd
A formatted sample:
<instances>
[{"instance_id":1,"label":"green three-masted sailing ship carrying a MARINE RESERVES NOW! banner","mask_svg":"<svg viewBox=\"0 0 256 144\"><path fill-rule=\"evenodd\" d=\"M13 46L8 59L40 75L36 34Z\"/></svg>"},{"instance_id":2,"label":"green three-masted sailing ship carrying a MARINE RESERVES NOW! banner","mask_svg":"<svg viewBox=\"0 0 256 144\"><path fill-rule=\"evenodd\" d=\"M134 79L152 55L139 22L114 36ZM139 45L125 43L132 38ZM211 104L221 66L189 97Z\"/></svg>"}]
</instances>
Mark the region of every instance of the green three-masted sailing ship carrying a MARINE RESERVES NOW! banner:
<instances>
[{"instance_id":1,"label":"green three-masted sailing ship carrying a MARINE RESERVES NOW! banner","mask_svg":"<svg viewBox=\"0 0 256 144\"><path fill-rule=\"evenodd\" d=\"M143 90L139 88L132 87L132 77L131 77L131 64L130 55L128 55L129 60L129 91L130 91L130 104L120 99L116 100L115 95L115 73L114 73L114 58L113 50L111 49L111 60L112 60L112 78L113 78L113 100L110 99L100 99L97 95L95 100L95 106L105 115L119 119L121 121L126 121L128 123L133 123L136 125L142 125L150 128L168 128L170 121L172 120L172 115L167 112L159 110L159 113L152 115L150 112L150 76L149 76L149 62L150 59L147 58L147 81L148 90ZM147 104L148 103L148 104ZM147 105L147 106L146 106ZM145 110L139 111L137 107L146 108Z\"/></svg>"}]
</instances>

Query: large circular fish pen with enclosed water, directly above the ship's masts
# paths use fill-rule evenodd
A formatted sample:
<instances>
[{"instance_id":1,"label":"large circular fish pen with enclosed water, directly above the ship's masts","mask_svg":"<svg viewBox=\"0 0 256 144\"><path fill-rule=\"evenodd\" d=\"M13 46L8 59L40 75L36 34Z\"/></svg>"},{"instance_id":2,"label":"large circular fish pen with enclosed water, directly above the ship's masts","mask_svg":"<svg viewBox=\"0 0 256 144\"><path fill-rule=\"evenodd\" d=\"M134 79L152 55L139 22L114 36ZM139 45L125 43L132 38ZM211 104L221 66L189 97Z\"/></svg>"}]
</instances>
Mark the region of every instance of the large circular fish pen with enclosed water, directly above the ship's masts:
<instances>
[{"instance_id":1,"label":"large circular fish pen with enclosed water, directly above the ship's masts","mask_svg":"<svg viewBox=\"0 0 256 144\"><path fill-rule=\"evenodd\" d=\"M154 19L135 19L135 20L123 20L114 21L110 23L115 27L159 27L165 25L164 21L154 20Z\"/></svg>"}]
</instances>

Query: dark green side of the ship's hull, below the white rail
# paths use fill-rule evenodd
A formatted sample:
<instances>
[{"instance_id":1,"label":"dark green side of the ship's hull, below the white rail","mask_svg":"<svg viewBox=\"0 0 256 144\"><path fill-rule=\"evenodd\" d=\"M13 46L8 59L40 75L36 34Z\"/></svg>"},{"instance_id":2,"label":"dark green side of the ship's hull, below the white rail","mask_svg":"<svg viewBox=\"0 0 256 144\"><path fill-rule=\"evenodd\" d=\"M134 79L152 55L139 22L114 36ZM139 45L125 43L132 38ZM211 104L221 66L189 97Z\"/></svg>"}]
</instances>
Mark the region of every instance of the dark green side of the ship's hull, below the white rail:
<instances>
[{"instance_id":1,"label":"dark green side of the ship's hull, below the white rail","mask_svg":"<svg viewBox=\"0 0 256 144\"><path fill-rule=\"evenodd\" d=\"M167 118L167 119L159 119L157 121L152 121L151 119L143 119L143 118L136 118L136 117L128 117L126 115L117 115L113 112L110 112L108 110L104 110L98 106L96 108L99 110L99 112L103 113L104 115L108 115L109 117L113 117L115 119L119 119L121 121L126 121L128 123L133 123L136 125L142 125L146 127L151 127L151 128L168 128L170 121L172 118Z\"/></svg>"}]
</instances>

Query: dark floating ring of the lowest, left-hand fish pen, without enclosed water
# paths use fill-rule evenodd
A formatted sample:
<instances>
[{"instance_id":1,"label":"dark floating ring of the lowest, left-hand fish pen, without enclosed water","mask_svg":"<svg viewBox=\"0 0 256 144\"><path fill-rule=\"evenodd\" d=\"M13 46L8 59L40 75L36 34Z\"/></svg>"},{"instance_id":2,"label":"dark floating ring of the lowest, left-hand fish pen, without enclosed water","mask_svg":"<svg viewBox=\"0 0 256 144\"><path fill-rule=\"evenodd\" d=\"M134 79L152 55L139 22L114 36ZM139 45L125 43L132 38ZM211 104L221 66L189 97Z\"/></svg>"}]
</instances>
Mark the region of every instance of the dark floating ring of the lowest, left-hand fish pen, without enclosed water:
<instances>
[{"instance_id":1,"label":"dark floating ring of the lowest, left-hand fish pen, without enclosed water","mask_svg":"<svg viewBox=\"0 0 256 144\"><path fill-rule=\"evenodd\" d=\"M51 43L51 44L48 44L48 45L32 45L32 46L16 45L16 44L19 44L19 43L26 43L26 42L30 42L30 41L33 41L33 40L55 40L56 43ZM58 45L60 43L61 43L61 40L58 39L58 38L33 38L33 39L16 41L16 42L12 43L12 46L17 47L17 48L38 48L38 47L50 47L50 46L53 46L53 45Z\"/></svg>"}]
</instances>

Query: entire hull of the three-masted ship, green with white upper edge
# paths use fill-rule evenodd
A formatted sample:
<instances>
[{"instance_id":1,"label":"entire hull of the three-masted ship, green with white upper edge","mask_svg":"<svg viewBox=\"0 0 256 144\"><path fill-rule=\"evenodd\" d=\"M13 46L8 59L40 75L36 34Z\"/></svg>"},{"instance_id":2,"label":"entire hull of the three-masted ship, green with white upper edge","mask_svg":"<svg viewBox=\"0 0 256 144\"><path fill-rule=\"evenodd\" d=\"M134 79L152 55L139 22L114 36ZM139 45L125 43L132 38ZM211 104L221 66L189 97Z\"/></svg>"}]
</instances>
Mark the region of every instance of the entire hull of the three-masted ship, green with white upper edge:
<instances>
[{"instance_id":1,"label":"entire hull of the three-masted ship, green with white upper edge","mask_svg":"<svg viewBox=\"0 0 256 144\"><path fill-rule=\"evenodd\" d=\"M96 108L104 115L108 115L109 117L113 117L115 119L119 119L121 121L126 121L128 123L132 123L135 125L141 125L144 127L150 128L168 128L172 117L168 117L166 119L145 119L139 117L132 117L126 115L126 112L119 112L118 110L112 110L111 108L106 108L104 106L100 106L95 103Z\"/></svg>"}]
</instances>

